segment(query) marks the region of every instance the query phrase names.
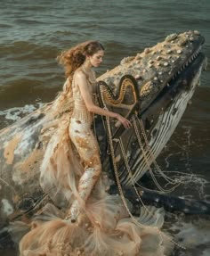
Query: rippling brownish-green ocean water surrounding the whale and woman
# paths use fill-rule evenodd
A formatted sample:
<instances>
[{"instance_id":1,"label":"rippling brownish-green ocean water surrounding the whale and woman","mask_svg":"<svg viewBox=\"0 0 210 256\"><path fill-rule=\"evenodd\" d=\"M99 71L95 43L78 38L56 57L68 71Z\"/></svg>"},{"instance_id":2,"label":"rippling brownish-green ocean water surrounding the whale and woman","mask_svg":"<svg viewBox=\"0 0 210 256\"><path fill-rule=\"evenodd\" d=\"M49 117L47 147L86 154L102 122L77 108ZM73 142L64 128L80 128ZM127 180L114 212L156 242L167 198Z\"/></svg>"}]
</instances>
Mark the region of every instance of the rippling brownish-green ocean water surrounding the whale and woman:
<instances>
[{"instance_id":1,"label":"rippling brownish-green ocean water surrounding the whale and woman","mask_svg":"<svg viewBox=\"0 0 210 256\"><path fill-rule=\"evenodd\" d=\"M50 102L64 82L56 62L62 50L97 39L106 48L102 74L122 58L156 45L167 35L199 30L210 55L209 0L1 0L0 1L0 128L42 103ZM192 98L166 149L158 157L166 170L198 174L194 186L175 194L210 200L210 70ZM170 216L166 216L170 219ZM173 215L169 229L178 234L185 252L174 255L210 255L207 216ZM14 250L0 255L17 255Z\"/></svg>"}]
</instances>

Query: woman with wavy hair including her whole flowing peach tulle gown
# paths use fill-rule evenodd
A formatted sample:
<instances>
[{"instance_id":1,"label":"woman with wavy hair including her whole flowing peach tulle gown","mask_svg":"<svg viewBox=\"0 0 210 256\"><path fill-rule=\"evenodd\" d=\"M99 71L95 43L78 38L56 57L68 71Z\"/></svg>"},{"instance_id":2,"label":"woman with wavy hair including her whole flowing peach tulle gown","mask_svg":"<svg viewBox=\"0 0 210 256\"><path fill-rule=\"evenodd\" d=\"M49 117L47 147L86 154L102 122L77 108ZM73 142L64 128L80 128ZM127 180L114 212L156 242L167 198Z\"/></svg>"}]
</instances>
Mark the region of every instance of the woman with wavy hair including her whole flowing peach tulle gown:
<instances>
[{"instance_id":1,"label":"woman with wavy hair including her whole flowing peach tulle gown","mask_svg":"<svg viewBox=\"0 0 210 256\"><path fill-rule=\"evenodd\" d=\"M91 128L93 113L116 118L125 128L131 123L93 102L92 69L101 64L103 55L99 42L88 41L59 56L67 81L52 103L52 117L56 112L62 118L46 147L40 182L61 211L52 204L44 207L20 241L21 256L163 256L166 244L171 244L158 229L162 210L151 209L148 216L147 209L133 222L120 196L106 192L109 179L101 172ZM141 225L136 225L138 221Z\"/></svg>"}]
</instances>

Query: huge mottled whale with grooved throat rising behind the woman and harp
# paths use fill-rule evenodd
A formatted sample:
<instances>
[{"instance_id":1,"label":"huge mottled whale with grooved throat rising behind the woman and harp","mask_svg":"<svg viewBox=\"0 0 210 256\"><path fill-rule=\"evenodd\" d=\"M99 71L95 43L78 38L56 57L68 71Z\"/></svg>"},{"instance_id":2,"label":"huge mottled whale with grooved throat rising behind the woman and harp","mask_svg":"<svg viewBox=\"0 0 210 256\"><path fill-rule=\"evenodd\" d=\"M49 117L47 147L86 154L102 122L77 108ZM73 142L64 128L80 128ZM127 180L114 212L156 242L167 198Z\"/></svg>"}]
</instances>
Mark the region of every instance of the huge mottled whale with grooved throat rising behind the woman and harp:
<instances>
[{"instance_id":1,"label":"huge mottled whale with grooved throat rising behind the woman and harp","mask_svg":"<svg viewBox=\"0 0 210 256\"><path fill-rule=\"evenodd\" d=\"M206 69L206 56L201 52L204 43L205 38L198 30L173 33L157 45L125 57L117 67L97 78L97 104L117 111L133 123L132 128L125 129L114 120L94 118L102 169L113 180L110 194L121 188L128 200L141 207L133 194L133 186L138 183L138 198L149 204L165 207L166 211L209 213L207 202L186 202L174 197L173 189L168 194L156 178L160 173L173 185L172 179L159 169L156 159L182 119ZM68 114L63 111L54 118L55 106L56 100L45 103L0 130L2 234L11 221L28 222L51 202L50 195L39 184L39 169L47 143ZM154 163L156 171L152 173ZM151 192L141 181L148 174L160 193L156 189Z\"/></svg>"}]
</instances>

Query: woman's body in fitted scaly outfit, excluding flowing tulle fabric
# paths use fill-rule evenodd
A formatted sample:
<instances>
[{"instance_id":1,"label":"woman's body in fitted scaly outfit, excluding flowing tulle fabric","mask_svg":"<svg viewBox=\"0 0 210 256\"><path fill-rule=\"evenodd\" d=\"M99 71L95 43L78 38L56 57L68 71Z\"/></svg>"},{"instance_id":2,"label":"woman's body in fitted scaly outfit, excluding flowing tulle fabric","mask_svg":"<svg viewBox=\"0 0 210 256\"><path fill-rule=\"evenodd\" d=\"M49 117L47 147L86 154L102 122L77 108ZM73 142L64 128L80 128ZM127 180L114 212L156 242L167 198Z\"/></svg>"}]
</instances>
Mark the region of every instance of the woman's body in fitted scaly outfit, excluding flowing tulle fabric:
<instances>
[{"instance_id":1,"label":"woman's body in fitted scaly outfit, excluding flowing tulle fabric","mask_svg":"<svg viewBox=\"0 0 210 256\"><path fill-rule=\"evenodd\" d=\"M84 164L84 174L79 180L78 194L86 201L93 186L101 174L101 160L97 141L91 129L93 114L116 118L125 128L131 123L121 115L101 109L93 103L93 86L96 84L92 68L97 68L102 62L104 47L97 41L77 45L73 50L61 54L60 60L66 67L67 75L73 74L72 91L74 111L69 124L69 136L77 148L80 160ZM73 57L74 56L74 57ZM77 56L77 59L76 57ZM74 62L72 63L72 59ZM69 70L69 66L71 69ZM75 69L72 69L75 66ZM79 214L79 203L76 199L70 208L69 219L75 221Z\"/></svg>"}]
</instances>

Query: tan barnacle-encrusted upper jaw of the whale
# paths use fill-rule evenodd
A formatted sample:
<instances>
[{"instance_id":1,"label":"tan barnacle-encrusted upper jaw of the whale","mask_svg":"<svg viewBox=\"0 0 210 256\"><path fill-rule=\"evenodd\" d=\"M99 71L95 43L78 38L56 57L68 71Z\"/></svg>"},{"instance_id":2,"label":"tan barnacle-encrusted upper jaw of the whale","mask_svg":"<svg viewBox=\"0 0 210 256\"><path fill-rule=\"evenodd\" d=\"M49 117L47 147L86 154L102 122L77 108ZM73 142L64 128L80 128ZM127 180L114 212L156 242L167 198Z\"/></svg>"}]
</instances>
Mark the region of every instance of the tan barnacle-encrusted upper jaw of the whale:
<instances>
[{"instance_id":1,"label":"tan barnacle-encrusted upper jaw of the whale","mask_svg":"<svg viewBox=\"0 0 210 256\"><path fill-rule=\"evenodd\" d=\"M171 34L165 41L145 48L135 56L125 57L119 66L111 70L113 75L108 72L109 75L105 73L100 79L117 93L122 75L132 75L137 79L140 99L143 99L141 107L144 108L163 87L169 87L197 59L204 41L197 30Z\"/></svg>"}]
</instances>

